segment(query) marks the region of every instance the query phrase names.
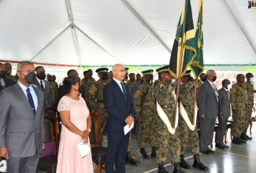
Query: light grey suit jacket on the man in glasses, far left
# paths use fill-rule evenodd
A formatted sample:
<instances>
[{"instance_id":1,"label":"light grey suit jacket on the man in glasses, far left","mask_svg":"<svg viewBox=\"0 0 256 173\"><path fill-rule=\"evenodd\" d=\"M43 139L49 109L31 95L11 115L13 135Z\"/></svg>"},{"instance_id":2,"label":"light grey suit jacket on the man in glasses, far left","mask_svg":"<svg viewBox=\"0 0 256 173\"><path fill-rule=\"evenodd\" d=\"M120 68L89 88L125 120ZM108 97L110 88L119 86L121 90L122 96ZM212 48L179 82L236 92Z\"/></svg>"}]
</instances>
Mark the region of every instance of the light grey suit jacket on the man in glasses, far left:
<instances>
[{"instance_id":1,"label":"light grey suit jacket on the man in glasses, far left","mask_svg":"<svg viewBox=\"0 0 256 173\"><path fill-rule=\"evenodd\" d=\"M0 96L0 147L7 147L11 157L42 153L45 140L43 91L32 86L38 98L35 115L19 84L2 90Z\"/></svg>"}]
</instances>

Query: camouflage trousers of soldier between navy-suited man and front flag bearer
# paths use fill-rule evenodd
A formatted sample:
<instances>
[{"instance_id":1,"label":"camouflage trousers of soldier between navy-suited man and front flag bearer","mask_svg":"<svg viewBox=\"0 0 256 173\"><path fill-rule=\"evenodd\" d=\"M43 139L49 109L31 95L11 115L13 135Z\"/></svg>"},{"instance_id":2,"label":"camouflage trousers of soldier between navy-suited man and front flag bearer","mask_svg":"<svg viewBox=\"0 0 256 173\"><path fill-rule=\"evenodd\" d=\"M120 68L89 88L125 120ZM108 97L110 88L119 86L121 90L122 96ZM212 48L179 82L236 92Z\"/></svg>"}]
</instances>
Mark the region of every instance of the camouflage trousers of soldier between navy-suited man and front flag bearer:
<instances>
[{"instance_id":1,"label":"camouflage trousers of soldier between navy-suited man and front flag bearer","mask_svg":"<svg viewBox=\"0 0 256 173\"><path fill-rule=\"evenodd\" d=\"M143 116L143 121L139 123L139 135L138 135L138 145L139 148L145 148L147 141L150 142L150 146L157 146L156 133L156 115L145 115Z\"/></svg>"}]
</instances>

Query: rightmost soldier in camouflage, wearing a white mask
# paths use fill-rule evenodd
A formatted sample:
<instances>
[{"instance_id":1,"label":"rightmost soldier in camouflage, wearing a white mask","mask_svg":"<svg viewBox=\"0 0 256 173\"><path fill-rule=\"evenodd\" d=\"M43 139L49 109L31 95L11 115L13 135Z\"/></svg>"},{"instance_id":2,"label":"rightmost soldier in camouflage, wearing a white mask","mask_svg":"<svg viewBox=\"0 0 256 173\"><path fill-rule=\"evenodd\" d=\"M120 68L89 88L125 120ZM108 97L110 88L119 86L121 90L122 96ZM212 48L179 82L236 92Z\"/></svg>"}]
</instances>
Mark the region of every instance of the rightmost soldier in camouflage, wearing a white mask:
<instances>
[{"instance_id":1,"label":"rightmost soldier in camouflage, wearing a white mask","mask_svg":"<svg viewBox=\"0 0 256 173\"><path fill-rule=\"evenodd\" d=\"M251 122L251 113L252 109L254 107L254 86L252 83L254 83L254 75L252 75L250 72L246 75L247 82L243 83L247 90L247 115L246 115L246 126L244 127L243 134L241 134L240 138L243 140L251 140L252 138L247 135L247 129L249 127L249 123Z\"/></svg>"}]
</instances>

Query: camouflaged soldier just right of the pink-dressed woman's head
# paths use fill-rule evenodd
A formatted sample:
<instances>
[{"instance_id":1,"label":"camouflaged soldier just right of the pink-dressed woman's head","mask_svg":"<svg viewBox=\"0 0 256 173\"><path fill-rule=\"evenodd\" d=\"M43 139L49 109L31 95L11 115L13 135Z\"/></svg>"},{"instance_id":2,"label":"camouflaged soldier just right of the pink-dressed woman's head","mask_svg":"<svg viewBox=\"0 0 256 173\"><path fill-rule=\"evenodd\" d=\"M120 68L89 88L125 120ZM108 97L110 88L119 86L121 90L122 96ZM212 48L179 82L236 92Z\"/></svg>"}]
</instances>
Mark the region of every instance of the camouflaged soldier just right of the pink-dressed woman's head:
<instances>
[{"instance_id":1,"label":"camouflaged soldier just right of the pink-dressed woman's head","mask_svg":"<svg viewBox=\"0 0 256 173\"><path fill-rule=\"evenodd\" d=\"M91 111L91 105L89 101L89 90L91 86L95 83L95 80L91 78L91 73L88 71L83 72L83 79L82 79L82 97L86 102L88 109Z\"/></svg>"}]
</instances>

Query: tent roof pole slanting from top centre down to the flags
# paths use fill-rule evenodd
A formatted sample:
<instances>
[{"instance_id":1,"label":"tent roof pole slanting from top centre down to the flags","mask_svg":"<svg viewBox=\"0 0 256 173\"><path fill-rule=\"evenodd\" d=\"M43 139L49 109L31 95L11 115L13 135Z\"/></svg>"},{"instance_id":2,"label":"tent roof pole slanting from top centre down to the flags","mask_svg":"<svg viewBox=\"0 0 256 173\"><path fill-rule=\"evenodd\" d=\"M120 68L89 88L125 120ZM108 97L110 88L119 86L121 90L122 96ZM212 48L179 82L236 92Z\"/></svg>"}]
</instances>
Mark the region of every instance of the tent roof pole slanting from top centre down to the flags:
<instances>
[{"instance_id":1,"label":"tent roof pole slanting from top centre down to the flags","mask_svg":"<svg viewBox=\"0 0 256 173\"><path fill-rule=\"evenodd\" d=\"M150 28L147 22L143 20L142 17L139 16L139 14L135 11L135 9L133 9L132 6L126 0L122 0L122 2L124 2L125 6L127 6L128 9L130 9L130 11L135 15L135 17L137 17L137 19L143 24L143 26L146 27L148 31L150 31L150 33L154 36L154 38L157 39L158 42L160 42L161 45L165 47L165 50L167 50L169 53L172 53L172 50L170 50L169 47L165 45L165 42L163 42L160 39L160 37L153 31L153 29Z\"/></svg>"}]
</instances>

